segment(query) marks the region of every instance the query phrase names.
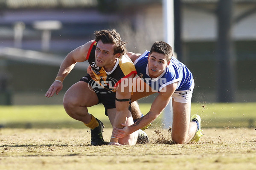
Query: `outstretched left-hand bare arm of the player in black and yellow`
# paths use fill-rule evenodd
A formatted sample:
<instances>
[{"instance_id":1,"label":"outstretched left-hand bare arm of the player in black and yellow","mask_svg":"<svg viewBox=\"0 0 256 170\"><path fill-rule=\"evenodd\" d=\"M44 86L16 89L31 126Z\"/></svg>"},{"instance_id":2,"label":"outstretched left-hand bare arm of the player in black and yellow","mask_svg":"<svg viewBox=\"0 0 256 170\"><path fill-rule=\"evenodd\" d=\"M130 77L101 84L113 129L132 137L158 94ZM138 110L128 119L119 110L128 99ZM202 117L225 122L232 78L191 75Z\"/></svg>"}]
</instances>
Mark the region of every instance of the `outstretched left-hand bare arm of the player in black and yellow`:
<instances>
[{"instance_id":1,"label":"outstretched left-hand bare arm of the player in black and yellow","mask_svg":"<svg viewBox=\"0 0 256 170\"><path fill-rule=\"evenodd\" d=\"M84 45L79 46L78 48L74 49L69 54L67 54L67 56L61 63L61 66L55 81L52 83L52 85L50 86L50 88L45 94L46 97L51 97L55 93L56 95L58 95L58 93L63 88L63 85L62 85L63 80L65 79L65 77L67 77L70 71L72 71L72 69L76 65L76 62L84 62L87 60L86 56L92 42L93 40L87 42Z\"/></svg>"}]
</instances>

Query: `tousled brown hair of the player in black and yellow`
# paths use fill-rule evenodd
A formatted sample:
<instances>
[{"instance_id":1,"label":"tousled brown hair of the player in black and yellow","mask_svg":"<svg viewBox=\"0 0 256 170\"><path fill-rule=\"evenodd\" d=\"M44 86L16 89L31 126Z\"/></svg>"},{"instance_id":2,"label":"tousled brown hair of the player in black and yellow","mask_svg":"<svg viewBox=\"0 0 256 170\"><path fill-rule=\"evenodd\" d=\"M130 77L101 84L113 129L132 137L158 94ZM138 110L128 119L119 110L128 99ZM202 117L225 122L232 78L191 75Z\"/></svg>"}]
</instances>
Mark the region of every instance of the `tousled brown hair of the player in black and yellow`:
<instances>
[{"instance_id":1,"label":"tousled brown hair of the player in black and yellow","mask_svg":"<svg viewBox=\"0 0 256 170\"><path fill-rule=\"evenodd\" d=\"M95 41L102 40L103 44L114 44L114 54L120 53L120 57L127 53L126 43L115 29L95 31Z\"/></svg>"}]
</instances>

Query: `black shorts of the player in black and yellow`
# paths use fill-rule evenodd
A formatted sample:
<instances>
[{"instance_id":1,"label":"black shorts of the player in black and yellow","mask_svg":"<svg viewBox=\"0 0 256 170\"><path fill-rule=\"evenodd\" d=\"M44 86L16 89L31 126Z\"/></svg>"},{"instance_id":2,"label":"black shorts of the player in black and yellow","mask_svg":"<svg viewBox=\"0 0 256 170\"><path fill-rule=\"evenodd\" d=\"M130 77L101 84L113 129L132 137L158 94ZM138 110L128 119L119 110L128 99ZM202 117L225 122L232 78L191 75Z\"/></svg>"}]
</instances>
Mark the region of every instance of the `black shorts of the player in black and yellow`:
<instances>
[{"instance_id":1,"label":"black shorts of the player in black and yellow","mask_svg":"<svg viewBox=\"0 0 256 170\"><path fill-rule=\"evenodd\" d=\"M92 78L90 77L89 74L86 76L82 77L80 81L87 82L90 87L92 87L92 83L94 81L90 81ZM105 88L93 88L94 92L98 96L99 103L102 103L105 108L105 115L108 116L108 109L116 108L116 93L115 92L109 92L108 89ZM107 93L106 93L107 92ZM129 101L129 111L131 111L131 99Z\"/></svg>"}]
</instances>

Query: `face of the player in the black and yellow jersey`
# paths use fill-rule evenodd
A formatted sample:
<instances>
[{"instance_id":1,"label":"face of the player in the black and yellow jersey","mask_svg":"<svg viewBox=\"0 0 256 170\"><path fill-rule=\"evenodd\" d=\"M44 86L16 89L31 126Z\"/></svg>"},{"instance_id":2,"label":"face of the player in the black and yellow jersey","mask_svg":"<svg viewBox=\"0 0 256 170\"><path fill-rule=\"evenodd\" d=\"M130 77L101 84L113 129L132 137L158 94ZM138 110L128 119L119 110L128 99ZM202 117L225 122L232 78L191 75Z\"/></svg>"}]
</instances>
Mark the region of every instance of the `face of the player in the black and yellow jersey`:
<instances>
[{"instance_id":1,"label":"face of the player in the black and yellow jersey","mask_svg":"<svg viewBox=\"0 0 256 170\"><path fill-rule=\"evenodd\" d=\"M101 40L97 43L95 51L95 63L99 67L104 67L106 71L111 71L116 64L116 59L119 57L118 54L114 53L113 44L103 44Z\"/></svg>"}]
</instances>

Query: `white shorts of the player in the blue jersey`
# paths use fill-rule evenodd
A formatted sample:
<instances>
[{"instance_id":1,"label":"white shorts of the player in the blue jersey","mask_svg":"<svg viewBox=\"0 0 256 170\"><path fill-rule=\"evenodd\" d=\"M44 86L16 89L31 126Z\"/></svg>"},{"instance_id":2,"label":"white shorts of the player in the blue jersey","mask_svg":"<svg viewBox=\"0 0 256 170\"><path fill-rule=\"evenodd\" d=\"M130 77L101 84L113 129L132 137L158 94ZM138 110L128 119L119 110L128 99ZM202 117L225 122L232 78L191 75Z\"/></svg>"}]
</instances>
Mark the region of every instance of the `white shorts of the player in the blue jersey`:
<instances>
[{"instance_id":1,"label":"white shorts of the player in the blue jersey","mask_svg":"<svg viewBox=\"0 0 256 170\"><path fill-rule=\"evenodd\" d=\"M184 91L175 91L174 94L172 94L172 98L175 102L179 103L190 103L192 98L192 93L194 91L195 82L194 79L192 80L192 85L188 90Z\"/></svg>"}]
</instances>

